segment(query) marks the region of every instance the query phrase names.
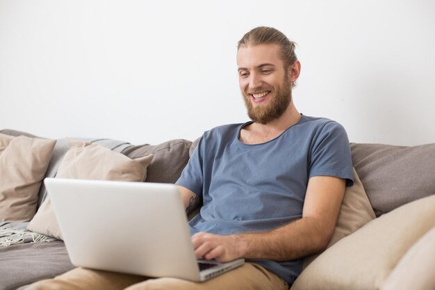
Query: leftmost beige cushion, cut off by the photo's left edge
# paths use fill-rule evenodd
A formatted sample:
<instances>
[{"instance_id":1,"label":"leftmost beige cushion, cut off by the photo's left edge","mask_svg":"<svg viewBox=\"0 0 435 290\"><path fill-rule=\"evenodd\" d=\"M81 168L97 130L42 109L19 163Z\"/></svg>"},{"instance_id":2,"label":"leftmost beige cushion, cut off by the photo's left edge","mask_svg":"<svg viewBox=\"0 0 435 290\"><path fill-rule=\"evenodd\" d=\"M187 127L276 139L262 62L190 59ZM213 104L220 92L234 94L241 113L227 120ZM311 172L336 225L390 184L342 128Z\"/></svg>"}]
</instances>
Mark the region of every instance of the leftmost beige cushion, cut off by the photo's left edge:
<instances>
[{"instance_id":1,"label":"leftmost beige cushion, cut off by the photo's left edge","mask_svg":"<svg viewBox=\"0 0 435 290\"><path fill-rule=\"evenodd\" d=\"M33 218L55 144L56 140L0 134L0 221Z\"/></svg>"}]
</instances>

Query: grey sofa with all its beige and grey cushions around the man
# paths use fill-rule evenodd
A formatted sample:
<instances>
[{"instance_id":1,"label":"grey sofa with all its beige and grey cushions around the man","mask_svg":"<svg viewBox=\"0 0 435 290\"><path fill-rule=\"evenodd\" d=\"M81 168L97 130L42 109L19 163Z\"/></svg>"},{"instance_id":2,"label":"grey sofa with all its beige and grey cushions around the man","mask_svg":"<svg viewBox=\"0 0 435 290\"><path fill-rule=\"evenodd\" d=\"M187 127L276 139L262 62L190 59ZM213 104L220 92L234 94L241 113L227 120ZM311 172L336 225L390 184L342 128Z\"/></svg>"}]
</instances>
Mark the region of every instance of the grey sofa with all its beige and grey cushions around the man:
<instances>
[{"instance_id":1,"label":"grey sofa with all its beige and grey cushions around the man","mask_svg":"<svg viewBox=\"0 0 435 290\"><path fill-rule=\"evenodd\" d=\"M26 289L74 268L45 177L174 183L196 145L0 130L0 290ZM346 189L334 235L324 252L304 258L291 289L434 290L435 144L350 147L355 184Z\"/></svg>"}]
</instances>

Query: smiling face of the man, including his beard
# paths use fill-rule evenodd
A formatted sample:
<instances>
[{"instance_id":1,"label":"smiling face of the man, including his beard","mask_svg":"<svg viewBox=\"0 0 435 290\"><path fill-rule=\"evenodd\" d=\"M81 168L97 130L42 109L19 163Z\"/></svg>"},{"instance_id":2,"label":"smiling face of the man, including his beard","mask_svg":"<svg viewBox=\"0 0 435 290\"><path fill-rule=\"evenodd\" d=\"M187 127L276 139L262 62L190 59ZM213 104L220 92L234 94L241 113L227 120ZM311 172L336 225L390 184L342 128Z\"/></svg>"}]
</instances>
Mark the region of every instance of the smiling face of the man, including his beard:
<instances>
[{"instance_id":1,"label":"smiling face of the man, including his beard","mask_svg":"<svg viewBox=\"0 0 435 290\"><path fill-rule=\"evenodd\" d=\"M278 45L240 47L239 85L249 118L267 124L279 118L291 101L291 83Z\"/></svg>"}]
</instances>

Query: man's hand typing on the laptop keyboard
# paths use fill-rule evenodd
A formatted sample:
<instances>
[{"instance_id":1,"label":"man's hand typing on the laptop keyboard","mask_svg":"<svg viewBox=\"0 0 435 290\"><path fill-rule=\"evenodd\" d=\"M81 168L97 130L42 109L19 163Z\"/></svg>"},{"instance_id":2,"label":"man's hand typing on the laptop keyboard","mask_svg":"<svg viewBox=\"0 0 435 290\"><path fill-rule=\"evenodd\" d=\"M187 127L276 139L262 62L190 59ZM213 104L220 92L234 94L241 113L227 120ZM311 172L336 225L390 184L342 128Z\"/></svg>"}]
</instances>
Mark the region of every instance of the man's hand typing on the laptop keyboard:
<instances>
[{"instance_id":1,"label":"man's hand typing on the laptop keyboard","mask_svg":"<svg viewBox=\"0 0 435 290\"><path fill-rule=\"evenodd\" d=\"M245 255L246 243L240 235L221 236L199 232L192 236L197 259L216 259L220 262L233 261Z\"/></svg>"}]
</instances>

